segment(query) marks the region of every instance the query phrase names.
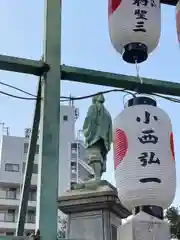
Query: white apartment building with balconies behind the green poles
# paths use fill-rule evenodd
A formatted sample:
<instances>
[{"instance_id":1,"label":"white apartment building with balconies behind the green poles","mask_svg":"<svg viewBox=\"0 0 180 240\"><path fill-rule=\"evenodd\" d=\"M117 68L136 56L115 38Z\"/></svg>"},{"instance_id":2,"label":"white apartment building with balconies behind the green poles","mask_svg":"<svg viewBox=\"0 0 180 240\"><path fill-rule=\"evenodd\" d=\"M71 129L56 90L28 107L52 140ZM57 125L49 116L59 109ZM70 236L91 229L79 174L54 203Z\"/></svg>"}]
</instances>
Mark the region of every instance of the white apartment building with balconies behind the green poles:
<instances>
[{"instance_id":1,"label":"white apartment building with balconies behind the green poles","mask_svg":"<svg viewBox=\"0 0 180 240\"><path fill-rule=\"evenodd\" d=\"M82 182L93 173L83 159L83 142L75 137L77 117L77 109L73 106L61 106L59 196L75 182ZM0 235L13 235L15 232L30 131L25 130L25 137L10 136L6 131L0 139ZM35 229L38 153L39 142L29 194L26 233Z\"/></svg>"}]
</instances>

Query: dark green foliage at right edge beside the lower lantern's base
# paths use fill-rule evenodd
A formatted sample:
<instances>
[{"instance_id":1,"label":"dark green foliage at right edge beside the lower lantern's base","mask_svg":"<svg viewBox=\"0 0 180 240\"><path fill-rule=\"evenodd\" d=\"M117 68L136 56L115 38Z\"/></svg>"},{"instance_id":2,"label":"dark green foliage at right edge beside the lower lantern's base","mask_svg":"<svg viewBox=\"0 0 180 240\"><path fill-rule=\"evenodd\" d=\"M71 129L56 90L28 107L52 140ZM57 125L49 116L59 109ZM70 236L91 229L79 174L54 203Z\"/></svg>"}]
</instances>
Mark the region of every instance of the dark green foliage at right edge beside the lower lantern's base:
<instances>
[{"instance_id":1,"label":"dark green foliage at right edge beside the lower lantern's base","mask_svg":"<svg viewBox=\"0 0 180 240\"><path fill-rule=\"evenodd\" d=\"M166 211L166 219L170 224L171 237L180 239L180 212L178 207L170 207Z\"/></svg>"}]
</instances>

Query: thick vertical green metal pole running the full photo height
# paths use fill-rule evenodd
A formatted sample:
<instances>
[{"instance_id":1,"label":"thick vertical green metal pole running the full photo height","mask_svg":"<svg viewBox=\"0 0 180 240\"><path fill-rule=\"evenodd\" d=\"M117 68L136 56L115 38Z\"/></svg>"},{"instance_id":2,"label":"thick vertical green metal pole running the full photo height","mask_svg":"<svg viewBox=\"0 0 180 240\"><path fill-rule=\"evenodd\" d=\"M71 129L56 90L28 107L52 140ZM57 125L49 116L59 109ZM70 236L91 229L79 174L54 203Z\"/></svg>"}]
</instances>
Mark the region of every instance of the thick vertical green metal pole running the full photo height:
<instances>
[{"instance_id":1,"label":"thick vertical green metal pole running the full photo height","mask_svg":"<svg viewBox=\"0 0 180 240\"><path fill-rule=\"evenodd\" d=\"M57 237L61 1L45 0L44 61L50 66L42 80L40 158L37 186L36 230L42 240Z\"/></svg>"}]
</instances>

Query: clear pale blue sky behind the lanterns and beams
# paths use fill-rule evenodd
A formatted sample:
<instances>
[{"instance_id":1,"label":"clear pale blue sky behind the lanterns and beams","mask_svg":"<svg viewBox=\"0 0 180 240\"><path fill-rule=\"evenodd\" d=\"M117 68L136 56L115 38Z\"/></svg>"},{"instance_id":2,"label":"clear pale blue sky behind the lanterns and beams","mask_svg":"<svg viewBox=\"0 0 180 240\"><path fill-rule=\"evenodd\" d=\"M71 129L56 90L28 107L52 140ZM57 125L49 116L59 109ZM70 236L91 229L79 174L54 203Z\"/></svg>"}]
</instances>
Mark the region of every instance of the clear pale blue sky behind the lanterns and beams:
<instances>
[{"instance_id":1,"label":"clear pale blue sky behind the lanterns and beams","mask_svg":"<svg viewBox=\"0 0 180 240\"><path fill-rule=\"evenodd\" d=\"M43 43L44 1L1 0L0 1L0 54L40 59ZM102 71L136 75L135 66L124 63L111 46L108 35L107 0L64 0L62 19L62 63ZM140 75L159 80L180 82L178 72L180 50L176 36L175 8L162 7L162 30L158 48L141 65ZM0 81L14 84L29 92L36 92L37 78L0 71ZM62 82L62 95L82 96L109 88L94 85ZM0 90L15 93L0 86ZM19 94L19 93L17 93ZM77 101L80 129L91 100ZM172 119L176 163L177 194L175 204L180 205L180 178L178 151L180 128L178 111L180 106L158 99L159 106ZM114 118L123 109L123 94L106 96L106 107ZM0 95L0 121L10 127L11 135L23 135L24 128L31 127L34 102L12 99ZM114 183L112 153L108 157L108 171L104 178Z\"/></svg>"}]
</instances>

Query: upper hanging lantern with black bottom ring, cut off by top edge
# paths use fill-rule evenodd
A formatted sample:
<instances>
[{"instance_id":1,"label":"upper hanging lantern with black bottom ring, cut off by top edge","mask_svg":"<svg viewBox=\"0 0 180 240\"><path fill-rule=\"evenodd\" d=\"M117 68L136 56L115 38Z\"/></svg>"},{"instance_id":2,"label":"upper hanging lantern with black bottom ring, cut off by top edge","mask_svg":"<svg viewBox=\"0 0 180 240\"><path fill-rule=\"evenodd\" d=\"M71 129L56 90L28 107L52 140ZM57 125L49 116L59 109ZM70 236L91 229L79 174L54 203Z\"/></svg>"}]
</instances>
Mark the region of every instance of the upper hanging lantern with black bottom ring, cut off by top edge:
<instances>
[{"instance_id":1,"label":"upper hanging lantern with black bottom ring, cut off by top edge","mask_svg":"<svg viewBox=\"0 0 180 240\"><path fill-rule=\"evenodd\" d=\"M109 0L112 45L129 63L147 59L158 45L161 27L159 0Z\"/></svg>"}]
</instances>

